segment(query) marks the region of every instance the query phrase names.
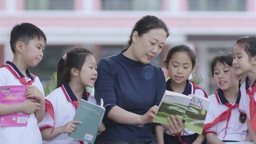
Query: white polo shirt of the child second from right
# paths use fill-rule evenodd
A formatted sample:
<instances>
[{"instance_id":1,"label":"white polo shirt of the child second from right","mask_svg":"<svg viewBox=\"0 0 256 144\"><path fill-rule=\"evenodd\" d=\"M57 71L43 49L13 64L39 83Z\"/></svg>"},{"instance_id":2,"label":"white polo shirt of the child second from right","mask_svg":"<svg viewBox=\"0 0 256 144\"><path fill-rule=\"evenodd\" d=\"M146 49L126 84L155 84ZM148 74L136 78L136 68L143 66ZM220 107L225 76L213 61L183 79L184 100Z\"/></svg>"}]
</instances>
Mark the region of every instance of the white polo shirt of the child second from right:
<instances>
[{"instance_id":1,"label":"white polo shirt of the child second from right","mask_svg":"<svg viewBox=\"0 0 256 144\"><path fill-rule=\"evenodd\" d=\"M210 100L210 106L207 111L205 124L212 123L221 113L228 110L228 107L225 104L229 103L229 101L224 97L223 91L220 89L218 90L217 95L212 94L208 98ZM235 103L239 103L240 98L241 95L239 94ZM235 105L235 103L232 105ZM243 142L245 140L247 136L246 115L240 114L238 107L231 110L227 134L225 138L223 138L225 135L226 124L227 119L205 130L205 133L213 133L221 141L227 140Z\"/></svg>"}]
</instances>

